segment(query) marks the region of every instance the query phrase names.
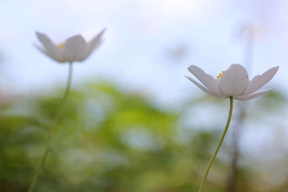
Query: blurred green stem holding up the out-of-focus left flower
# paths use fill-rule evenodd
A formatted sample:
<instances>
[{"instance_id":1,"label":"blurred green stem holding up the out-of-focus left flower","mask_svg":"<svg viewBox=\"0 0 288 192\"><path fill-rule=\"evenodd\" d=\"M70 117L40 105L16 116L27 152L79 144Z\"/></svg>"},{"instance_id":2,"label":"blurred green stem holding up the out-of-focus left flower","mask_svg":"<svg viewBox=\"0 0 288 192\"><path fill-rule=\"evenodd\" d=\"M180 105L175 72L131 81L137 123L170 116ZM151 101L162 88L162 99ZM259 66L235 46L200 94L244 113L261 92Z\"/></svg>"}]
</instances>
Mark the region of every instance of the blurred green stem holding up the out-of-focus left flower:
<instances>
[{"instance_id":1,"label":"blurred green stem holding up the out-of-focus left flower","mask_svg":"<svg viewBox=\"0 0 288 192\"><path fill-rule=\"evenodd\" d=\"M67 97L68 97L68 93L69 93L70 85L71 85L71 79L72 79L72 62L69 63L69 75L68 75L68 80L67 80L67 86L66 86L65 93L63 95L63 98L62 98L62 100L60 102L60 105L59 105L59 107L58 107L58 109L56 111L55 117L54 117L54 119L52 121L52 124L50 126L50 131L49 131L48 139L46 141L46 145L45 145L45 148L44 148L44 153L41 156L41 159L39 161L36 173L35 173L35 175L33 177L33 180L31 182L27 192L33 192L33 190L35 188L35 185L37 183L37 180L39 178L39 175L40 175L40 173L42 171L42 168L43 168L43 166L45 164L45 160L46 160L46 157L47 157L47 154L48 154L48 150L50 148L50 143L51 143L51 139L52 139L54 128L56 126L56 123L57 123L60 115L62 114L65 102L66 102Z\"/></svg>"}]
</instances>

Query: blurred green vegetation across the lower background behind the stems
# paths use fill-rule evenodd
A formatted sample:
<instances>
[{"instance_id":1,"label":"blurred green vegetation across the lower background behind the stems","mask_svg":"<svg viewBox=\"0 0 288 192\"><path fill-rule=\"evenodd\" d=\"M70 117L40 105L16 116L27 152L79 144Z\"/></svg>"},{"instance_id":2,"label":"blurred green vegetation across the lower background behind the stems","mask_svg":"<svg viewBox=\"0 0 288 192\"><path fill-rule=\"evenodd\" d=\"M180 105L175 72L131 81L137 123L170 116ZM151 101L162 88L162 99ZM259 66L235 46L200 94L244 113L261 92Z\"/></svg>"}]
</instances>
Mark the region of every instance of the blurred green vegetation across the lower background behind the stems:
<instances>
[{"instance_id":1,"label":"blurred green vegetation across the lower background behind the stems","mask_svg":"<svg viewBox=\"0 0 288 192\"><path fill-rule=\"evenodd\" d=\"M10 97L9 102L0 98L0 192L27 190L61 96L59 91L33 99ZM265 125L287 127L283 123L287 102L281 94L270 92L252 104L255 110L250 106L247 112L249 125L261 129L261 119L273 116L274 121L275 114L280 114L282 124L275 121ZM198 191L225 126L228 106L228 100L204 96L169 112L153 107L140 94L124 94L111 85L91 83L72 90L35 191ZM214 119L206 119L213 116L209 113ZM225 141L205 192L226 191L229 135ZM273 149L279 152L277 146L284 144L268 148L266 155L270 157ZM264 155L262 161L251 156L249 150L240 150L236 191L287 191L286 148L281 148L281 157L267 160ZM273 168L279 165L280 173ZM276 178L283 180L277 182Z\"/></svg>"}]
</instances>

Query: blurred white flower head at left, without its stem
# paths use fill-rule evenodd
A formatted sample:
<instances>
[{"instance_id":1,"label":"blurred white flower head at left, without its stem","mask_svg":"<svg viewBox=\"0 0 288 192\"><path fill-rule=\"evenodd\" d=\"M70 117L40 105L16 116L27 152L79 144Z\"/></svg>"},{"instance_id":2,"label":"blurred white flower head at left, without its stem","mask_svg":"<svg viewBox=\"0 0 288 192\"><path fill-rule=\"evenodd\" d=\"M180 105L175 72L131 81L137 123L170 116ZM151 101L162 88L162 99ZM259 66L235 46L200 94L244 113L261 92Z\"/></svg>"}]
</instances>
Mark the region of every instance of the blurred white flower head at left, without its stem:
<instances>
[{"instance_id":1,"label":"blurred white flower head at left, without its stem","mask_svg":"<svg viewBox=\"0 0 288 192\"><path fill-rule=\"evenodd\" d=\"M102 42L104 31L105 29L96 35L89 43L86 43L81 35L76 35L67 39L65 43L60 43L58 45L53 43L45 34L36 32L37 37L44 45L44 48L40 48L38 45L35 46L47 56L58 62L82 61Z\"/></svg>"}]
</instances>

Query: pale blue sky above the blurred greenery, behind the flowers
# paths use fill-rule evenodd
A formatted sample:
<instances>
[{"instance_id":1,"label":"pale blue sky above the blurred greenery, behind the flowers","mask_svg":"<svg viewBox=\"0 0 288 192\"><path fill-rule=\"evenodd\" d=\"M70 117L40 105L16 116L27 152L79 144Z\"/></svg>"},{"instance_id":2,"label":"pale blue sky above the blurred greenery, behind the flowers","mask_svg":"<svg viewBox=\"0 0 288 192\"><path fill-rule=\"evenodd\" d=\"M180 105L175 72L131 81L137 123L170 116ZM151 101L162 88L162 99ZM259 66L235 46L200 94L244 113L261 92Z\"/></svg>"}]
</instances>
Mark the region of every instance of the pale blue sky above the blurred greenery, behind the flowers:
<instances>
[{"instance_id":1,"label":"pale blue sky above the blurred greenery, behind the flowers","mask_svg":"<svg viewBox=\"0 0 288 192\"><path fill-rule=\"evenodd\" d=\"M239 34L249 24L255 34L249 77L279 65L266 88L281 83L287 92L288 1L2 0L0 9L0 79L14 92L65 85L68 66L35 49L35 31L60 43L77 34L90 40L106 28L104 43L75 64L72 85L105 78L177 103L200 92L183 76L193 77L191 64L215 77L233 63L245 65L247 43Z\"/></svg>"}]
</instances>

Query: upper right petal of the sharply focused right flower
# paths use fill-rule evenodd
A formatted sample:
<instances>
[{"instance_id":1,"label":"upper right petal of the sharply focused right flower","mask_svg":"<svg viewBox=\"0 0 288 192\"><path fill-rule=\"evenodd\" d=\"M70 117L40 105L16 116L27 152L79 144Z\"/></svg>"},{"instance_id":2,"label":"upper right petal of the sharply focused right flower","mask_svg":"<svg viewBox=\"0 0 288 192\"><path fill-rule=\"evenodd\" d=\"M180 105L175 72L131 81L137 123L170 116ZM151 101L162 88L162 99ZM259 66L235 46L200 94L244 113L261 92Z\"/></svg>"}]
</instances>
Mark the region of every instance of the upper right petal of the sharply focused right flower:
<instances>
[{"instance_id":1,"label":"upper right petal of the sharply focused right flower","mask_svg":"<svg viewBox=\"0 0 288 192\"><path fill-rule=\"evenodd\" d=\"M253 79L249 81L249 86L243 96L249 95L266 85L266 83L268 83L274 77L278 69L279 66L273 67L262 75L256 75L255 77L253 77Z\"/></svg>"}]
</instances>

